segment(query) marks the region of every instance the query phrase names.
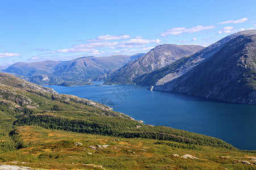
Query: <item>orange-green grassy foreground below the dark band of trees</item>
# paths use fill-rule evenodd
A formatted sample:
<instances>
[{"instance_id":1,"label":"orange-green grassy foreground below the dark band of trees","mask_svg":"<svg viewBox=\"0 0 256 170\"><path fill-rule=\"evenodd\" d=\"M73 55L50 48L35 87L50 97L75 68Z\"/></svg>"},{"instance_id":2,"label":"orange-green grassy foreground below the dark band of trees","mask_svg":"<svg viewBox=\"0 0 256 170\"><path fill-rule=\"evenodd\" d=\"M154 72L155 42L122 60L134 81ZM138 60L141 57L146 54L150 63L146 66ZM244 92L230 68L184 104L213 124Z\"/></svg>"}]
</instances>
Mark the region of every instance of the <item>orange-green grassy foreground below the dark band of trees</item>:
<instances>
[{"instance_id":1,"label":"orange-green grassy foreground below the dark band of trees","mask_svg":"<svg viewBox=\"0 0 256 170\"><path fill-rule=\"evenodd\" d=\"M0 155L0 164L47 169L255 169L254 152L172 141L117 138L19 126L24 148ZM82 145L81 145L82 144ZM179 156L174 156L178 154ZM189 154L198 159L185 159ZM236 164L234 164L236 163ZM102 166L102 168L101 168Z\"/></svg>"}]
</instances>

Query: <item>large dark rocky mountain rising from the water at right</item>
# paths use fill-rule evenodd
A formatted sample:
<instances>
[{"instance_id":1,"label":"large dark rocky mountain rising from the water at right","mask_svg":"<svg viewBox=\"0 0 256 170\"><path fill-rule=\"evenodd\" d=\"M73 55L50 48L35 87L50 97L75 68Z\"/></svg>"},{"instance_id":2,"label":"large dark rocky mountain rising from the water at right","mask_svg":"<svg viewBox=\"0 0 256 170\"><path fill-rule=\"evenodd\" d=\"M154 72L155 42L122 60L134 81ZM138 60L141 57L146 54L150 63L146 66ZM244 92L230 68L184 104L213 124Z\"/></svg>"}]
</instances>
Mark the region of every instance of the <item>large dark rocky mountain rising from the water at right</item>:
<instances>
[{"instance_id":1,"label":"large dark rocky mountain rising from the water at right","mask_svg":"<svg viewBox=\"0 0 256 170\"><path fill-rule=\"evenodd\" d=\"M152 90L181 92L256 104L256 31L242 31L135 82Z\"/></svg>"}]
</instances>

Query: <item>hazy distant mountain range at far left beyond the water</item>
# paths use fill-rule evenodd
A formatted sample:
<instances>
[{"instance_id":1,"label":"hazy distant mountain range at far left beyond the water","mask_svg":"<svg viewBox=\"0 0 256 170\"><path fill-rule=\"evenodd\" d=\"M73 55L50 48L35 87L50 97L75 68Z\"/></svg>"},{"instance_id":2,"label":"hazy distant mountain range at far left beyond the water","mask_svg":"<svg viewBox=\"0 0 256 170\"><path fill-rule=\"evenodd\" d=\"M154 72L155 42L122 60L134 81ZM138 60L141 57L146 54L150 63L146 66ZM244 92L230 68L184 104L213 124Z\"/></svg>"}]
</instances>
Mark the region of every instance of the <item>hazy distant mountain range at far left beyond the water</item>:
<instances>
[{"instance_id":1,"label":"hazy distant mountain range at far left beyond the water","mask_svg":"<svg viewBox=\"0 0 256 170\"><path fill-rule=\"evenodd\" d=\"M81 57L71 61L18 62L3 70L37 84L59 84L67 81L89 81L110 70L141 57L115 55L110 57Z\"/></svg>"}]
</instances>

